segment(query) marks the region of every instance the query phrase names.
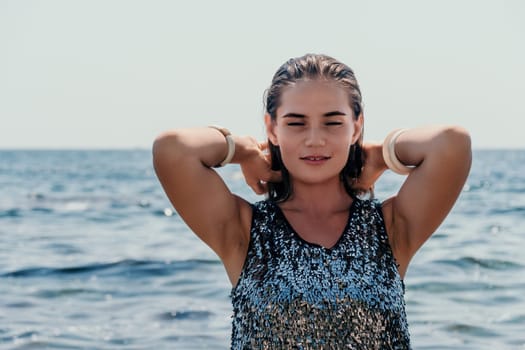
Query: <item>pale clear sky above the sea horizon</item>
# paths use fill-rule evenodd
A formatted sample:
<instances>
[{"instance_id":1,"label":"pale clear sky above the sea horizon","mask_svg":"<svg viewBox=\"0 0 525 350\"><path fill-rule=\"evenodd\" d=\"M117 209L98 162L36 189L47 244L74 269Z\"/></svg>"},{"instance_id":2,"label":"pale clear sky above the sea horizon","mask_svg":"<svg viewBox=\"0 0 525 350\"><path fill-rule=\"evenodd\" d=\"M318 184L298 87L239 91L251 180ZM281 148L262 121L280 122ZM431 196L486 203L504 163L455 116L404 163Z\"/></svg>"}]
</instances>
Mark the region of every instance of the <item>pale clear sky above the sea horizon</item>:
<instances>
[{"instance_id":1,"label":"pale clear sky above the sea horizon","mask_svg":"<svg viewBox=\"0 0 525 350\"><path fill-rule=\"evenodd\" d=\"M525 148L524 18L520 0L0 0L0 149L262 139L264 90L308 52L354 69L365 139L459 124L475 148Z\"/></svg>"}]
</instances>

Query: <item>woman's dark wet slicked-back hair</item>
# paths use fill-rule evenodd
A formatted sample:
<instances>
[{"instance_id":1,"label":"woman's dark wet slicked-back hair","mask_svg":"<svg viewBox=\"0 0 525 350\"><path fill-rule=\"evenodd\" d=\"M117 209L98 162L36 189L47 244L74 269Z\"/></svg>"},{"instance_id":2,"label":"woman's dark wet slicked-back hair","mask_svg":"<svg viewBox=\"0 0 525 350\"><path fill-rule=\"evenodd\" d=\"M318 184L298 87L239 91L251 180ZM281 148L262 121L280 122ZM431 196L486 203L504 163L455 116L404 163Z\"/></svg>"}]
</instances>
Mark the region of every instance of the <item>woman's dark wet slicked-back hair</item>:
<instances>
[{"instance_id":1,"label":"woman's dark wet slicked-back hair","mask_svg":"<svg viewBox=\"0 0 525 350\"><path fill-rule=\"evenodd\" d=\"M281 104L281 96L284 88L302 80L319 79L335 81L348 92L350 106L357 120L362 114L363 108L361 90L359 89L352 69L332 57L307 54L288 60L279 67L273 76L272 84L265 93L266 112L270 115L272 121L277 120L276 112ZM290 198L293 193L290 173L281 159L279 147L273 145L269 140L268 144L272 157L272 170L280 170L282 172L282 182L268 183L268 196L270 200L283 202ZM339 175L346 192L352 198L355 198L361 193L360 190L353 188L353 184L359 175L361 175L365 161L362 144L363 133L361 133L359 140L350 147L348 160Z\"/></svg>"}]
</instances>

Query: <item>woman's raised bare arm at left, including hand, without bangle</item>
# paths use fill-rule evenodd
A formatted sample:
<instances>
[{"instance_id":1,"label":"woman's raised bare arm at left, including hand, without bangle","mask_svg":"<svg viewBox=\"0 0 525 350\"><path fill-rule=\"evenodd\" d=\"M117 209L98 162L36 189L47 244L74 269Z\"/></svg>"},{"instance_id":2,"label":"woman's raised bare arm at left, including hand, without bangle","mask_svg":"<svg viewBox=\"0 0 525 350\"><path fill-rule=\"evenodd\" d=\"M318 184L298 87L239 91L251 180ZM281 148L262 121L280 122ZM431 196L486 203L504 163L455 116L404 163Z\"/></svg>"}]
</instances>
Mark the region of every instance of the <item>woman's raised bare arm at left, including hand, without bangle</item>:
<instances>
[{"instance_id":1,"label":"woman's raised bare arm at left, including hand, without bangle","mask_svg":"<svg viewBox=\"0 0 525 350\"><path fill-rule=\"evenodd\" d=\"M232 163L255 164L251 169L259 167L263 174L269 169L261 145L253 138L234 136L233 140ZM218 130L176 129L155 140L153 164L177 213L217 253L235 284L249 242L251 207L232 194L212 168L227 153L228 144Z\"/></svg>"}]
</instances>

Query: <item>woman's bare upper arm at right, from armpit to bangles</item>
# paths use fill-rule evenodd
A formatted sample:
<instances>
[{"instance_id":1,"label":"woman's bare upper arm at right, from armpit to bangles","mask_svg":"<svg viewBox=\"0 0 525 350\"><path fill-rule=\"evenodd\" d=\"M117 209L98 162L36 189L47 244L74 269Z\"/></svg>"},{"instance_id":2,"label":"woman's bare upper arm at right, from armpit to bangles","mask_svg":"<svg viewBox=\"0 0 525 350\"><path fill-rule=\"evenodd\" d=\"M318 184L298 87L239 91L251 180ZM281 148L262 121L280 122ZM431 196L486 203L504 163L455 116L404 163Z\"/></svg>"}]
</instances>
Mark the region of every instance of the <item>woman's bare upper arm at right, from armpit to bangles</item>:
<instances>
[{"instance_id":1,"label":"woman's bare upper arm at right, from armpit to bangles","mask_svg":"<svg viewBox=\"0 0 525 350\"><path fill-rule=\"evenodd\" d=\"M472 161L470 136L456 126L409 129L395 155L415 165L398 194L383 204L390 241L404 276L410 259L452 209Z\"/></svg>"}]
</instances>

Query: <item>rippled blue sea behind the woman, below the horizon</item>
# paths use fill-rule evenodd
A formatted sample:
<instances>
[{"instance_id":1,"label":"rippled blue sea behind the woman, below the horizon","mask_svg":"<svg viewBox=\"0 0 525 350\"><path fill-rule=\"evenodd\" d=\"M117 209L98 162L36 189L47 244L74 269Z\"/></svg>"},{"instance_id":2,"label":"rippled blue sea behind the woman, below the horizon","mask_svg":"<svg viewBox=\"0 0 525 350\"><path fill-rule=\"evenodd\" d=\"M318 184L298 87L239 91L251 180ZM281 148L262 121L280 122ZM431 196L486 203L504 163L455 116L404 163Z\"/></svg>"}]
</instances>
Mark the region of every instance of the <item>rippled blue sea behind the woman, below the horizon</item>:
<instances>
[{"instance_id":1,"label":"rippled blue sea behind the woman, below the horizon","mask_svg":"<svg viewBox=\"0 0 525 350\"><path fill-rule=\"evenodd\" d=\"M405 277L413 348L525 349L524 251L525 150L477 150ZM149 150L0 151L0 349L226 349L230 288Z\"/></svg>"}]
</instances>

